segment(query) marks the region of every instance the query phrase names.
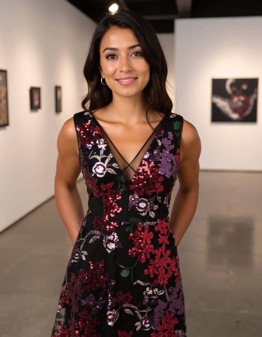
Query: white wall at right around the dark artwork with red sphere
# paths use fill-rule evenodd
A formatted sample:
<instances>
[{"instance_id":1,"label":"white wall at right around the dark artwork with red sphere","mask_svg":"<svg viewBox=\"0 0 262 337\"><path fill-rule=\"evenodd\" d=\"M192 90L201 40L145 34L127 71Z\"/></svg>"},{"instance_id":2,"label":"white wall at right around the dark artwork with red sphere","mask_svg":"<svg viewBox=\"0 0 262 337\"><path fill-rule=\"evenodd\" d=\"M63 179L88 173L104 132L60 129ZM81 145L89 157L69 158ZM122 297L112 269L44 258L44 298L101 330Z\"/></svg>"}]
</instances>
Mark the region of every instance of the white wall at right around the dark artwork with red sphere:
<instances>
[{"instance_id":1,"label":"white wall at right around the dark artwork with red sphere","mask_svg":"<svg viewBox=\"0 0 262 337\"><path fill-rule=\"evenodd\" d=\"M201 137L200 167L262 170L262 87L258 121L211 123L212 78L262 78L262 17L175 20L177 113Z\"/></svg>"}]
</instances>

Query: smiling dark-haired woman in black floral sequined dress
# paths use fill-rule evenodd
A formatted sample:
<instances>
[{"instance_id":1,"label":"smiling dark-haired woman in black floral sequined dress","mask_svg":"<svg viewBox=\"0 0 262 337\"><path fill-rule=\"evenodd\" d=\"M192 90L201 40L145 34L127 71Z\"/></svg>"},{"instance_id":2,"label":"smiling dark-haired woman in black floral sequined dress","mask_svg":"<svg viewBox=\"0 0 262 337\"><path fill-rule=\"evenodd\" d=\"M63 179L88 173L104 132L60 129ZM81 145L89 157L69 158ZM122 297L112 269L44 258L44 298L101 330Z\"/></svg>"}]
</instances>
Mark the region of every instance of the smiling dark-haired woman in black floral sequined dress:
<instances>
[{"instance_id":1,"label":"smiling dark-haired woman in black floral sequined dress","mask_svg":"<svg viewBox=\"0 0 262 337\"><path fill-rule=\"evenodd\" d=\"M197 206L197 131L171 113L162 48L135 13L101 20L84 75L89 110L58 137L55 195L74 248L52 336L186 336L177 246Z\"/></svg>"}]
</instances>

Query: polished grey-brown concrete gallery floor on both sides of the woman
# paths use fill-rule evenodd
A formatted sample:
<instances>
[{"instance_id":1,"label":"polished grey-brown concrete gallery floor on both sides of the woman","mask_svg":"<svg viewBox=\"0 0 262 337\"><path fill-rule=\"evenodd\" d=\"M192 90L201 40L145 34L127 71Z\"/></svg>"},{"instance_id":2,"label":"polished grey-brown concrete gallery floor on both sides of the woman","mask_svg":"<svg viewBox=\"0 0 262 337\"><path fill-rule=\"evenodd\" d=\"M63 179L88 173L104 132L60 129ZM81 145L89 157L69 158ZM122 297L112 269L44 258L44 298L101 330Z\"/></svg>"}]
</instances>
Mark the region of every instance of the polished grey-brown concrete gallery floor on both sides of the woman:
<instances>
[{"instance_id":1,"label":"polished grey-brown concrete gallery floor on both sides of the woman","mask_svg":"<svg viewBox=\"0 0 262 337\"><path fill-rule=\"evenodd\" d=\"M261 200L262 173L200 173L178 248L188 337L262 336ZM0 234L1 337L51 336L71 249L54 198Z\"/></svg>"}]
</instances>

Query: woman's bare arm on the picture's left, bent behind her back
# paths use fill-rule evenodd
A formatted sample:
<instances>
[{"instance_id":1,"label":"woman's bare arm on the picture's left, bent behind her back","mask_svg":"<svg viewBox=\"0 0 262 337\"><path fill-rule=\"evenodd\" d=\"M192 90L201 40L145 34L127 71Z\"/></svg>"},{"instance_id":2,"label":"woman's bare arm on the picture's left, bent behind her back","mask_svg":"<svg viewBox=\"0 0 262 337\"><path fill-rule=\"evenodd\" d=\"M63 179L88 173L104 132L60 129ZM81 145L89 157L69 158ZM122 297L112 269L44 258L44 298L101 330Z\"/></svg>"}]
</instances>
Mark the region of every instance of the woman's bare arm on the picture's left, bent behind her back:
<instances>
[{"instance_id":1,"label":"woman's bare arm on the picture's left, bent behind her back","mask_svg":"<svg viewBox=\"0 0 262 337\"><path fill-rule=\"evenodd\" d=\"M55 198L59 214L74 245L84 210L76 187L81 172L73 118L63 125L57 140L58 158L55 177Z\"/></svg>"}]
</instances>

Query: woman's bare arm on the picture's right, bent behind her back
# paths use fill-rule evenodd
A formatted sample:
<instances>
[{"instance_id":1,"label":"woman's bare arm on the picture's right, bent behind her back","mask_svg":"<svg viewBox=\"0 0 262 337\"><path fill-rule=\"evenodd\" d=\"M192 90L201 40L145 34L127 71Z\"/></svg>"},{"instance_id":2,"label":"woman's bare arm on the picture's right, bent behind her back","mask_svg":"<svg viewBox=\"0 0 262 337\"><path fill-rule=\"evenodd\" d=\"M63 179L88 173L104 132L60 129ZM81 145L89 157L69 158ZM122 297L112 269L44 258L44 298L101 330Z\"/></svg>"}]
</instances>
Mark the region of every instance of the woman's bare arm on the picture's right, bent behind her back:
<instances>
[{"instance_id":1,"label":"woman's bare arm on the picture's right, bent behind her back","mask_svg":"<svg viewBox=\"0 0 262 337\"><path fill-rule=\"evenodd\" d=\"M196 128L184 120L181 134L181 162L177 173L179 188L172 207L170 224L179 245L196 211L199 190L201 143Z\"/></svg>"}]
</instances>

